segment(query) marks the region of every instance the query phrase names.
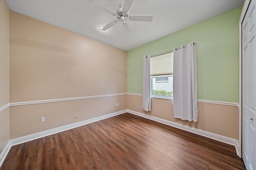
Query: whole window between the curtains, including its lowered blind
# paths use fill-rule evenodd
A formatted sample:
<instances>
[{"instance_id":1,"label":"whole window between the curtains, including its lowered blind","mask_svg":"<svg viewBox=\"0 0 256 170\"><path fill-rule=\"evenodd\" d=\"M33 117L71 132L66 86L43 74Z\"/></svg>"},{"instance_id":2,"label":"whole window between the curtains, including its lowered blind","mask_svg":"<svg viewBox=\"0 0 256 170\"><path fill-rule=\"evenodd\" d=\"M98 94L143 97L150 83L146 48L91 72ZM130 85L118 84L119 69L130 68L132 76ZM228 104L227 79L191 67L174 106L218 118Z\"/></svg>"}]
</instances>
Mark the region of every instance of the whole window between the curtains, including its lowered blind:
<instances>
[{"instance_id":1,"label":"whole window between the curtains, including its lowered blind","mask_svg":"<svg viewBox=\"0 0 256 170\"><path fill-rule=\"evenodd\" d=\"M151 97L172 98L173 52L150 58Z\"/></svg>"}]
</instances>

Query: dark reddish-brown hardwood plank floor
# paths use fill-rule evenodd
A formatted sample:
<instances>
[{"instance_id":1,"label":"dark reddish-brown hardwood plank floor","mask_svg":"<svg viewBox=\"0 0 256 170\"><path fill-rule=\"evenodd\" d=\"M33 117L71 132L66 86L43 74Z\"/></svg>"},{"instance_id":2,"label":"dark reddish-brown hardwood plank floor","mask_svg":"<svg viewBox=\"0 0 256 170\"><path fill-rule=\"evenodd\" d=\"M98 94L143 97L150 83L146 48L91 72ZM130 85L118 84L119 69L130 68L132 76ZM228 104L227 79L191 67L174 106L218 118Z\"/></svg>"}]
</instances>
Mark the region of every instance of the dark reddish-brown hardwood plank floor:
<instances>
[{"instance_id":1,"label":"dark reddish-brown hardwood plank floor","mask_svg":"<svg viewBox=\"0 0 256 170\"><path fill-rule=\"evenodd\" d=\"M234 146L130 113L13 146L0 170L244 170Z\"/></svg>"}]
</instances>

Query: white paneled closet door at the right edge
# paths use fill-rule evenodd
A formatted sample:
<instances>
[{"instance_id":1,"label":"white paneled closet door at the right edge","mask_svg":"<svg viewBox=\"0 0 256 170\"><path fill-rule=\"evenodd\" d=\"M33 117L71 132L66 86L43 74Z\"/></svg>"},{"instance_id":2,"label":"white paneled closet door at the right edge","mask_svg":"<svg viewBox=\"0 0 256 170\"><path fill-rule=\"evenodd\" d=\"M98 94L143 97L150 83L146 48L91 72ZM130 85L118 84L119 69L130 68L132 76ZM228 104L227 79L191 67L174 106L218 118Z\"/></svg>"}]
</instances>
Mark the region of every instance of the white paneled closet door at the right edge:
<instances>
[{"instance_id":1,"label":"white paneled closet door at the right edge","mask_svg":"<svg viewBox=\"0 0 256 170\"><path fill-rule=\"evenodd\" d=\"M242 22L242 158L247 170L256 170L255 4L250 2Z\"/></svg>"}]
</instances>

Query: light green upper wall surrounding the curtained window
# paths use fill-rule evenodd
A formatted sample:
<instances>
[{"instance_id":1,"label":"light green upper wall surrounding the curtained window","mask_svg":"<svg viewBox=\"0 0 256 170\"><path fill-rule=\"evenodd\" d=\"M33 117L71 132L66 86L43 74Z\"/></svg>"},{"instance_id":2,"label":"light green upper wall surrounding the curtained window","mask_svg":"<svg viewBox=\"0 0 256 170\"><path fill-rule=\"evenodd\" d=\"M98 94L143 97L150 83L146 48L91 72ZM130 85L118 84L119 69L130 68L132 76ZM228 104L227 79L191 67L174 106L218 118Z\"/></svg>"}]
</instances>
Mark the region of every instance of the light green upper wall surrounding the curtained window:
<instances>
[{"instance_id":1,"label":"light green upper wall surrounding the curtained window","mask_svg":"<svg viewBox=\"0 0 256 170\"><path fill-rule=\"evenodd\" d=\"M128 93L142 94L143 56L197 42L198 99L238 103L242 6L128 51ZM174 23L175 24L175 23Z\"/></svg>"}]
</instances>

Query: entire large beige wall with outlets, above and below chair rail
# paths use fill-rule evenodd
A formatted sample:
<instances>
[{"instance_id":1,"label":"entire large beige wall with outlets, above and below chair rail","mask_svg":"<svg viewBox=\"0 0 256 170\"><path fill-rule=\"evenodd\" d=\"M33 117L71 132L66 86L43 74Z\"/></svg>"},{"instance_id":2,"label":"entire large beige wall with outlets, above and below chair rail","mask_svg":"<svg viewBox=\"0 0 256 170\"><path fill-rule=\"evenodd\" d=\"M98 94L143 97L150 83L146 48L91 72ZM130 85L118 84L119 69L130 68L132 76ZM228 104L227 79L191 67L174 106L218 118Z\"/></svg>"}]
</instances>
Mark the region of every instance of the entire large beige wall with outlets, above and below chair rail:
<instances>
[{"instance_id":1,"label":"entire large beige wall with outlets, above and below chair rail","mask_svg":"<svg viewBox=\"0 0 256 170\"><path fill-rule=\"evenodd\" d=\"M11 103L126 92L126 51L10 11ZM11 106L10 139L126 108L126 95Z\"/></svg>"}]
</instances>

